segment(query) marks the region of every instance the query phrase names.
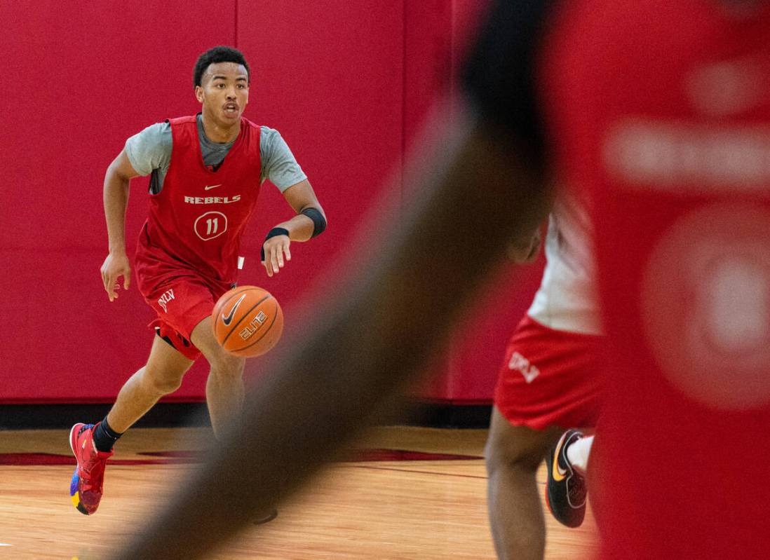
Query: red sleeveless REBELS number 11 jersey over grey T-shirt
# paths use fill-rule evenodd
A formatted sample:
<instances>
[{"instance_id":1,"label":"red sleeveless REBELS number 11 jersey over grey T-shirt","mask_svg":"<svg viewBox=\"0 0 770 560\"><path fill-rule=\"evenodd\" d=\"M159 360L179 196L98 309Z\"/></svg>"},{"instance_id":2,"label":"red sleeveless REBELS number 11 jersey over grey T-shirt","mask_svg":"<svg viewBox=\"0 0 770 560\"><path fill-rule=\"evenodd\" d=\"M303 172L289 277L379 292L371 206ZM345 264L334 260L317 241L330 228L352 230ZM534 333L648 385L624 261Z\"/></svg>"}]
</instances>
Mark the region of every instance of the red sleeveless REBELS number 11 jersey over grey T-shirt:
<instances>
[{"instance_id":1,"label":"red sleeveless REBELS number 11 jersey over grey T-shirt","mask_svg":"<svg viewBox=\"0 0 770 560\"><path fill-rule=\"evenodd\" d=\"M196 117L172 118L171 164L149 195L149 217L136 248L145 278L174 268L236 282L243 226L259 195L259 126L241 118L240 134L216 171L203 165Z\"/></svg>"}]
</instances>

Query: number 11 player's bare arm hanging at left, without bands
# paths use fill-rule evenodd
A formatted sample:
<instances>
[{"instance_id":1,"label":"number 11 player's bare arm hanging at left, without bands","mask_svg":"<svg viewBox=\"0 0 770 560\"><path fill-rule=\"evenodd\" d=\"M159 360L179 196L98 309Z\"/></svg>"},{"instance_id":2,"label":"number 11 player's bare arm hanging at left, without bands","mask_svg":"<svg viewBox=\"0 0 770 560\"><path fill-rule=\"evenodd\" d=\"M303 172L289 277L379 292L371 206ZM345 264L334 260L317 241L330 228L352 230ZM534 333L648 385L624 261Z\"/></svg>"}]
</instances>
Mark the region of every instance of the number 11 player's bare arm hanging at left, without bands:
<instances>
[{"instance_id":1,"label":"number 11 player's bare arm hanging at left, without bands","mask_svg":"<svg viewBox=\"0 0 770 560\"><path fill-rule=\"evenodd\" d=\"M124 149L109 164L104 177L104 215L109 254L101 272L110 302L118 297L119 277L123 277L123 289L128 289L131 284L131 262L126 255L126 208L129 205L129 182L138 176Z\"/></svg>"}]
</instances>

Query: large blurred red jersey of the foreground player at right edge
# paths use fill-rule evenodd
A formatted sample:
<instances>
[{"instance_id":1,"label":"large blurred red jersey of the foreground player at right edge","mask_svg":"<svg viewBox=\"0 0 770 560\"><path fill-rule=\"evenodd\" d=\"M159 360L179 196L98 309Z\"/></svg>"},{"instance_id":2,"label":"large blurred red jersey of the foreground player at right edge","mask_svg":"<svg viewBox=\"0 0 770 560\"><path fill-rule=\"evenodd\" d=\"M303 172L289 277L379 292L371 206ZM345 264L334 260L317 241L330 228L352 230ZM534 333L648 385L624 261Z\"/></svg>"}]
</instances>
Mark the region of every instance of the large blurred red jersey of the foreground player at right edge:
<instances>
[{"instance_id":1,"label":"large blurred red jersey of the foreground player at right edge","mask_svg":"<svg viewBox=\"0 0 770 560\"><path fill-rule=\"evenodd\" d=\"M585 2L554 33L544 92L611 342L605 558L770 550L768 33L770 3L735 0Z\"/></svg>"}]
</instances>

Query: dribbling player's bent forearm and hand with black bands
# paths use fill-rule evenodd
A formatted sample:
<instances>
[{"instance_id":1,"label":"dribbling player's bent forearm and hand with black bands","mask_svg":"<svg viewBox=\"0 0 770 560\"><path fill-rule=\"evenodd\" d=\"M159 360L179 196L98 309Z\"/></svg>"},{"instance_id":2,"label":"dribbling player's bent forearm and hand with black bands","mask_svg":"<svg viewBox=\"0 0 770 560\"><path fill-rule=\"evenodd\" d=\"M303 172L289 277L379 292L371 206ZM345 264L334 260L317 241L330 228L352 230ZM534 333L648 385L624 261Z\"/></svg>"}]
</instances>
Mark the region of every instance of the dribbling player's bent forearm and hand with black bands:
<instances>
[{"instance_id":1,"label":"dribbling player's bent forearm and hand with black bands","mask_svg":"<svg viewBox=\"0 0 770 560\"><path fill-rule=\"evenodd\" d=\"M285 235L269 234L262 245L262 264L268 276L279 272L285 261L291 260L291 242L307 241L326 229L326 214L307 179L286 188L283 191L283 198L286 198L286 202L294 209L296 215L286 222L276 224L270 230L271 234L283 234L276 231L283 230L286 232Z\"/></svg>"}]
</instances>

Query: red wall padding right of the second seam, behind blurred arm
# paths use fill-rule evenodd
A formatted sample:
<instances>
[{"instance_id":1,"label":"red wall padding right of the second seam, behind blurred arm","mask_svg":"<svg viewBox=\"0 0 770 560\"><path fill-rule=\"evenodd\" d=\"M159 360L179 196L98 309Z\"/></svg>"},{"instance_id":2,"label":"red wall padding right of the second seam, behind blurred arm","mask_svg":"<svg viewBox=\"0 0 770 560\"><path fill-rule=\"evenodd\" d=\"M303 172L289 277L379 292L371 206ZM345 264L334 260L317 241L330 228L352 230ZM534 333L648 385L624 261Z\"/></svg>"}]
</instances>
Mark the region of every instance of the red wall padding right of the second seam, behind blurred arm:
<instances>
[{"instance_id":1,"label":"red wall padding right of the second seam, behind blurred arm","mask_svg":"<svg viewBox=\"0 0 770 560\"><path fill-rule=\"evenodd\" d=\"M454 96L461 65L484 15L483 0L407 2L405 26L404 135L407 150L423 131L440 96ZM408 185L404 185L408 188ZM408 200L408 192L405 199ZM490 402L507 339L524 315L540 281L543 261L504 266L457 325L447 352L418 394L457 404Z\"/></svg>"}]
</instances>

